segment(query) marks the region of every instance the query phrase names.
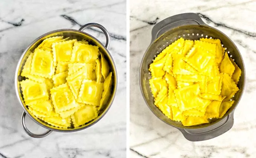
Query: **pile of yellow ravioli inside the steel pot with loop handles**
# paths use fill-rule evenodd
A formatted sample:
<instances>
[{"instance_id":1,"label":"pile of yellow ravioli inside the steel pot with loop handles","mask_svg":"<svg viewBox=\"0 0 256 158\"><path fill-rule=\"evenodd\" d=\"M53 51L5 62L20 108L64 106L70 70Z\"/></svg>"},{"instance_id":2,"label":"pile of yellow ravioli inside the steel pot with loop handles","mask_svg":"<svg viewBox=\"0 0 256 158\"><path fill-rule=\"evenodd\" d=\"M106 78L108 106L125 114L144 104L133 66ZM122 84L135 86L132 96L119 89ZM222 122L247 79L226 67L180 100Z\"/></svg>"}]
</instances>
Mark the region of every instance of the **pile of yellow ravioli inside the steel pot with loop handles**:
<instances>
[{"instance_id":1,"label":"pile of yellow ravioli inside the steel pot with loop handles","mask_svg":"<svg viewBox=\"0 0 256 158\"><path fill-rule=\"evenodd\" d=\"M58 128L95 119L112 90L112 72L97 46L87 41L45 39L23 66L20 82L29 111Z\"/></svg>"}]
</instances>

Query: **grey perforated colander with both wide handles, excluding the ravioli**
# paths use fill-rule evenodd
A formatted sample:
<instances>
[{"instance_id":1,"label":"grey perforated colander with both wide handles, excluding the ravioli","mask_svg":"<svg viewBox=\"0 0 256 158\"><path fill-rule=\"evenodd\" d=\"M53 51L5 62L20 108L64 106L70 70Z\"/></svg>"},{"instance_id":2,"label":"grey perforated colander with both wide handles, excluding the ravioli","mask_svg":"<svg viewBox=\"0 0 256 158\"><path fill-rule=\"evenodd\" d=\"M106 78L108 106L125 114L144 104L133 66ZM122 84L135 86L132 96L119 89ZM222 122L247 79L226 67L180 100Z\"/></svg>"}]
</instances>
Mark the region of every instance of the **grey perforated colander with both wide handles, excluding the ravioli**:
<instances>
[{"instance_id":1,"label":"grey perforated colander with both wide handles, excluding the ravioli","mask_svg":"<svg viewBox=\"0 0 256 158\"><path fill-rule=\"evenodd\" d=\"M149 79L151 79L151 74L148 70L149 65L163 49L181 37L185 40L199 40L200 38L220 39L222 46L226 49L225 51L229 53L229 56L234 59L236 64L242 70L238 82L239 91L232 98L235 102L221 119L212 120L210 123L203 125L183 126L181 122L175 122L166 117L162 111L154 105L154 97L152 96L149 86ZM234 111L241 99L244 87L245 68L242 56L235 44L224 33L205 24L195 13L174 15L155 24L152 29L151 44L146 50L140 66L140 89L145 102L151 111L163 122L179 129L187 140L208 140L229 131L233 126Z\"/></svg>"}]
</instances>

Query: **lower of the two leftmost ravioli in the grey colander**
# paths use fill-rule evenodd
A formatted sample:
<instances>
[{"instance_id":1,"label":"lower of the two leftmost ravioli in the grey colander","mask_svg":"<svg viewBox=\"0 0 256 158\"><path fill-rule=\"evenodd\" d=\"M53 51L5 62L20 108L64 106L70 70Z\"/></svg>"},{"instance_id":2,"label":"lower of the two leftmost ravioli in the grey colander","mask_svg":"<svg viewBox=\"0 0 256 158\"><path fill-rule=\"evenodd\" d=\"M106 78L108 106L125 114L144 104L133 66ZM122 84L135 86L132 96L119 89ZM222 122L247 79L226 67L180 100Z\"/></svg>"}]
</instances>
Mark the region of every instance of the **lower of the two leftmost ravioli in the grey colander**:
<instances>
[{"instance_id":1,"label":"lower of the two leftmost ravioli in the grey colander","mask_svg":"<svg viewBox=\"0 0 256 158\"><path fill-rule=\"evenodd\" d=\"M149 79L150 88L154 97L157 96L158 92L163 88L167 87L167 83L163 77Z\"/></svg>"}]
</instances>

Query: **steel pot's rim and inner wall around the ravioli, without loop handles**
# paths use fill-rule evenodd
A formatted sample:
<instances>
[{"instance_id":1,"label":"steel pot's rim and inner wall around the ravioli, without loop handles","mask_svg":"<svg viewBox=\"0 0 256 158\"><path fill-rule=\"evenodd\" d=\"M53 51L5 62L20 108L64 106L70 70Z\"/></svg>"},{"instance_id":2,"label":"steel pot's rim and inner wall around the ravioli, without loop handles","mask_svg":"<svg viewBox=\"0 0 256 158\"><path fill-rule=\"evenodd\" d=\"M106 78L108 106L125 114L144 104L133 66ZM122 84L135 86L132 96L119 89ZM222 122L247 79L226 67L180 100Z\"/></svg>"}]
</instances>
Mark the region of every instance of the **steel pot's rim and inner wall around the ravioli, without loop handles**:
<instances>
[{"instance_id":1,"label":"steel pot's rim and inner wall around the ravioli, without loop handles","mask_svg":"<svg viewBox=\"0 0 256 158\"><path fill-rule=\"evenodd\" d=\"M58 128L52 125L49 125L48 123L38 119L37 117L35 117L27 108L27 106L24 103L24 98L21 92L21 86L20 86L20 81L23 81L25 78L21 77L21 71L23 69L23 66L26 62L26 59L28 58L29 54L32 53L34 51L35 48L37 48L37 46L46 38L49 37L53 37L53 36L64 36L64 38L69 37L69 40L72 39L77 39L78 41L80 40L86 40L89 42L89 44L94 45L94 46L98 46L99 50L101 53L103 53L105 59L108 61L108 64L110 65L110 71L112 71L113 73L113 85L112 85L112 93L108 99L108 102L103 106L103 108L101 109L101 111L99 111L99 115L98 117L96 117L96 119L91 120L90 122L86 123L85 125L76 127L76 128ZM91 35L88 35L85 32L81 32L79 30L73 30L73 29L61 29L61 30L55 30L49 33L46 33L42 36L40 36L39 38L37 38L32 44L30 44L30 46L24 51L23 55L21 55L20 61L17 65L17 69L16 69L16 75L15 75L16 79L15 81L15 86L17 86L16 88L16 93L18 96L18 99L20 100L21 105L23 106L24 111L29 115L29 117L34 120L36 123L38 123L39 125L43 126L44 128L53 130L53 131L58 131L58 132L74 132L74 131L79 131L85 128L90 127L91 125L93 125L94 123L98 122L103 116L104 114L108 111L108 109L110 108L111 103L113 102L114 96L116 94L116 89L117 89L117 74L116 74L116 67L114 65L114 61L113 58L111 57L110 53L108 52L108 50L103 46L103 44L101 42L99 42L96 38L94 38Z\"/></svg>"}]
</instances>

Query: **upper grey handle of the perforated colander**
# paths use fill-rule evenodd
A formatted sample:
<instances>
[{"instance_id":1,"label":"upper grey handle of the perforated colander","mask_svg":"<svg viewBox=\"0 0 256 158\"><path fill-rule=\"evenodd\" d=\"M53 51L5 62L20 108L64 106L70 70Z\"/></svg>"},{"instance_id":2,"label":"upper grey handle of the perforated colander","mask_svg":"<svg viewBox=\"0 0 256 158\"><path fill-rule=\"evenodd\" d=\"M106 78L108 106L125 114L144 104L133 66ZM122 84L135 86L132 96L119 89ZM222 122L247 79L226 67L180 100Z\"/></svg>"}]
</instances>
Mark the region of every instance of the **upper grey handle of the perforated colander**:
<instances>
[{"instance_id":1,"label":"upper grey handle of the perforated colander","mask_svg":"<svg viewBox=\"0 0 256 158\"><path fill-rule=\"evenodd\" d=\"M174 15L172 17L166 18L155 24L152 29L152 40L151 43L155 41L159 36L174 27L183 25L206 25L198 14L195 13L183 13Z\"/></svg>"}]
</instances>

